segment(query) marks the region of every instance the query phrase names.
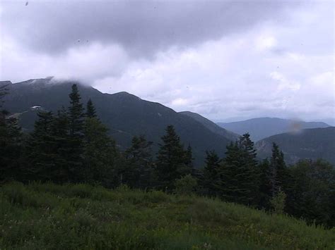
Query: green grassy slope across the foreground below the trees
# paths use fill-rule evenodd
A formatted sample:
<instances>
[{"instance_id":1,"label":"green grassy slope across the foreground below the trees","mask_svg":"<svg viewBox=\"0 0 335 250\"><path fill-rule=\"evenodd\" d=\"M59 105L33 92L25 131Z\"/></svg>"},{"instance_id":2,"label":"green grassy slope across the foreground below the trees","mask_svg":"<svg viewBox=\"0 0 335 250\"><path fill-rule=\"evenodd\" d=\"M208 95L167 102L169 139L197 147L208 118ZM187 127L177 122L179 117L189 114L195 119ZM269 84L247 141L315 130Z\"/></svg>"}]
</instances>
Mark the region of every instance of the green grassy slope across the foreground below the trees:
<instances>
[{"instance_id":1,"label":"green grassy slope across the foreground below the trees","mask_svg":"<svg viewBox=\"0 0 335 250\"><path fill-rule=\"evenodd\" d=\"M334 249L335 230L196 196L0 187L0 249Z\"/></svg>"}]
</instances>

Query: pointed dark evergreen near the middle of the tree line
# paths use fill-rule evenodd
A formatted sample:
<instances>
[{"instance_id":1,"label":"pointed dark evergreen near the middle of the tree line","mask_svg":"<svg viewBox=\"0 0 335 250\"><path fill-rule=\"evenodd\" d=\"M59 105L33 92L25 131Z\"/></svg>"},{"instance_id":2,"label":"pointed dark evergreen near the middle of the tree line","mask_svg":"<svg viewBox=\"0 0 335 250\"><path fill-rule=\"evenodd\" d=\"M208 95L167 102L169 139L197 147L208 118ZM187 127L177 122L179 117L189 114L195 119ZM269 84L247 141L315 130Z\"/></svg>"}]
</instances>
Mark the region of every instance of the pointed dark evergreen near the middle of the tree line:
<instances>
[{"instance_id":1,"label":"pointed dark evergreen near the middle of the tree line","mask_svg":"<svg viewBox=\"0 0 335 250\"><path fill-rule=\"evenodd\" d=\"M184 149L180 137L175 132L175 127L168 125L166 134L162 137L158 151L156 170L160 188L174 189L176 179L189 174L189 168L184 161Z\"/></svg>"}]
</instances>

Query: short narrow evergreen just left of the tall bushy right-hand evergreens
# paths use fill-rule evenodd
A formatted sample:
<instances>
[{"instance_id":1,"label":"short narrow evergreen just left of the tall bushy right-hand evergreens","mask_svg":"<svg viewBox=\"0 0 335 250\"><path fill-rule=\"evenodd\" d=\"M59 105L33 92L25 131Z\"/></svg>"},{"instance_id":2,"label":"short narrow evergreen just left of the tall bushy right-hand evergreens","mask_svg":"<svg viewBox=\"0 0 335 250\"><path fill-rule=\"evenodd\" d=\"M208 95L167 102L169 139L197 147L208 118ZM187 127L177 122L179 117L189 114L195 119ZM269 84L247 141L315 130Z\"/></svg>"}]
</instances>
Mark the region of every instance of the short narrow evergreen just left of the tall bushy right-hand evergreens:
<instances>
[{"instance_id":1,"label":"short narrow evergreen just left of the tall bushy right-hand evergreens","mask_svg":"<svg viewBox=\"0 0 335 250\"><path fill-rule=\"evenodd\" d=\"M206 151L206 161L204 168L204 180L202 186L206 190L206 194L209 196L218 196L221 180L221 159L216 154L216 151Z\"/></svg>"}]
</instances>

